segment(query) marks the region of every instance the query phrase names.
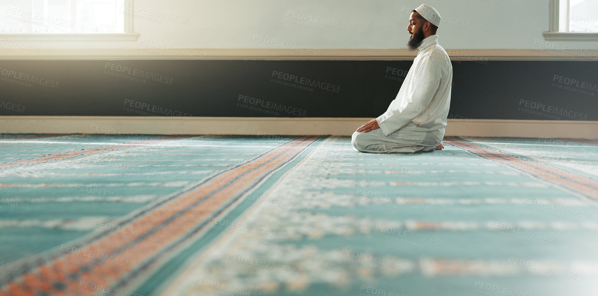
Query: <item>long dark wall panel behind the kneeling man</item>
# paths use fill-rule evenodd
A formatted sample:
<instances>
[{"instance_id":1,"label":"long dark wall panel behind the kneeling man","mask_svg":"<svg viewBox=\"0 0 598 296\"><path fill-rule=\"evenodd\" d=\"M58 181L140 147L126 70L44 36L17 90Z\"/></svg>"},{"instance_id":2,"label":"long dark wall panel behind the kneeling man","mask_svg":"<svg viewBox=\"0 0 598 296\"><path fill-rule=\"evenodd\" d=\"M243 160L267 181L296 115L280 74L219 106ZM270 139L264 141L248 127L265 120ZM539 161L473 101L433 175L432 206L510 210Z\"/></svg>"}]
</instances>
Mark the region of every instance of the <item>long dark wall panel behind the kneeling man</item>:
<instances>
[{"instance_id":1,"label":"long dark wall panel behind the kneeling man","mask_svg":"<svg viewBox=\"0 0 598 296\"><path fill-rule=\"evenodd\" d=\"M0 61L0 115L374 118L411 63ZM449 118L598 120L598 62L453 61L453 75Z\"/></svg>"}]
</instances>

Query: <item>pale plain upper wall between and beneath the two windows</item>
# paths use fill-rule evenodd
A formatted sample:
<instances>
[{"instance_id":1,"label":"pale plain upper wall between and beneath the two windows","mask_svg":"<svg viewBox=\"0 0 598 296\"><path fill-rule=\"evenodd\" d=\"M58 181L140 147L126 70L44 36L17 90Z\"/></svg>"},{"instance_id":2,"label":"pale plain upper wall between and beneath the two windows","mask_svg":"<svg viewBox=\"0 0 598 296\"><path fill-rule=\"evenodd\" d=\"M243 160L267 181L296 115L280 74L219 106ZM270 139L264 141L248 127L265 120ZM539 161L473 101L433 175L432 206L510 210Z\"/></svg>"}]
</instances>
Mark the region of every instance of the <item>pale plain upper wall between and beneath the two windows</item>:
<instances>
[{"instance_id":1,"label":"pale plain upper wall between and beneath the two windows","mask_svg":"<svg viewBox=\"0 0 598 296\"><path fill-rule=\"evenodd\" d=\"M311 48L406 48L408 15L422 0L134 0L135 7L188 18L188 23L138 11L137 42L32 42L41 48L140 48L141 39L176 48L257 48L254 36ZM475 1L475 2L473 2ZM447 21L440 44L451 49L535 49L548 30L550 0L426 0ZM502 2L496 3L496 2ZM408 9L404 9L408 8ZM288 11L311 14L353 26L354 32L328 31L289 23ZM308 21L309 23L309 21ZM467 26L467 27L462 27ZM598 49L598 42L557 42L577 49ZM146 46L147 47L147 46ZM151 43L149 47L155 47Z\"/></svg>"}]
</instances>

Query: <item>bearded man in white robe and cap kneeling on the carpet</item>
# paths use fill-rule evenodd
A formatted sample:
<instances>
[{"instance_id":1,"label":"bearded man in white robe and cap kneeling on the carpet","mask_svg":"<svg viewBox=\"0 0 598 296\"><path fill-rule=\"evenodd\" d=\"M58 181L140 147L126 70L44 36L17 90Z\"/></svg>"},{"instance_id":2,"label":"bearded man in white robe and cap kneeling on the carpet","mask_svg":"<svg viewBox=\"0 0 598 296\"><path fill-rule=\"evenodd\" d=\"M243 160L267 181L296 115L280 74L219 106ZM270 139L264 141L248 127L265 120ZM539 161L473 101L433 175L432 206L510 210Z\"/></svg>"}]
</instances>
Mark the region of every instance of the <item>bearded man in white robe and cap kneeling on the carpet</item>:
<instances>
[{"instance_id":1,"label":"bearded man in white robe and cap kneeling on the carpet","mask_svg":"<svg viewBox=\"0 0 598 296\"><path fill-rule=\"evenodd\" d=\"M453 66L436 31L440 14L426 4L411 12L410 51L419 49L395 100L378 118L353 133L359 152L411 153L444 148L442 140L449 115Z\"/></svg>"}]
</instances>

